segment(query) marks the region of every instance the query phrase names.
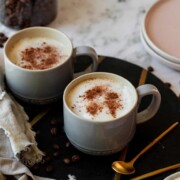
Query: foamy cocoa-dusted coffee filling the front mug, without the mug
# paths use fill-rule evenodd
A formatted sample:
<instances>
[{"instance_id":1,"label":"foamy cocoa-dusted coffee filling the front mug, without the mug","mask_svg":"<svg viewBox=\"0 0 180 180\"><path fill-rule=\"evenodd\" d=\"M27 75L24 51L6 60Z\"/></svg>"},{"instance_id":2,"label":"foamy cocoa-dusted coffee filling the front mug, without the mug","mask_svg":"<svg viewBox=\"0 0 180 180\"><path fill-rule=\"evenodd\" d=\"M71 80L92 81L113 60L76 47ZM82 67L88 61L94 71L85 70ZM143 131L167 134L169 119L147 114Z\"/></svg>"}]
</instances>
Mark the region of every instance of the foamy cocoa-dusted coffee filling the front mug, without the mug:
<instances>
[{"instance_id":1,"label":"foamy cocoa-dusted coffee filling the front mug, without the mug","mask_svg":"<svg viewBox=\"0 0 180 180\"><path fill-rule=\"evenodd\" d=\"M75 114L97 121L122 117L132 108L133 101L127 85L110 78L84 80L67 95L67 104Z\"/></svg>"}]
</instances>

